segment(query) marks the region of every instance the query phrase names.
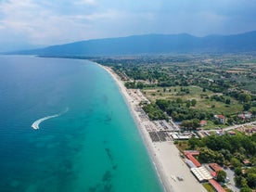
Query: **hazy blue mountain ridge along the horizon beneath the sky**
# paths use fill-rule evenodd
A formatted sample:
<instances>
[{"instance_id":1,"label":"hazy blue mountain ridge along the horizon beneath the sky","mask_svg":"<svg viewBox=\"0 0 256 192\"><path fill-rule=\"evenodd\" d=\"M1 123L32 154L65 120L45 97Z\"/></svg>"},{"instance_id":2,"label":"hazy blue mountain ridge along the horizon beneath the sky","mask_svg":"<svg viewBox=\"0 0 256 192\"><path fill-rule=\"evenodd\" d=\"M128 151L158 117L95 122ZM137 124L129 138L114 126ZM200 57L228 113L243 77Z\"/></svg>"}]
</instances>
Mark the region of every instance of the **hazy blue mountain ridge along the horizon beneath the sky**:
<instances>
[{"instance_id":1,"label":"hazy blue mountain ridge along the horizon beneath the sky","mask_svg":"<svg viewBox=\"0 0 256 192\"><path fill-rule=\"evenodd\" d=\"M51 56L103 56L134 54L168 54L195 52L256 51L256 31L236 35L147 34L96 39L41 49L16 51L11 54Z\"/></svg>"}]
</instances>

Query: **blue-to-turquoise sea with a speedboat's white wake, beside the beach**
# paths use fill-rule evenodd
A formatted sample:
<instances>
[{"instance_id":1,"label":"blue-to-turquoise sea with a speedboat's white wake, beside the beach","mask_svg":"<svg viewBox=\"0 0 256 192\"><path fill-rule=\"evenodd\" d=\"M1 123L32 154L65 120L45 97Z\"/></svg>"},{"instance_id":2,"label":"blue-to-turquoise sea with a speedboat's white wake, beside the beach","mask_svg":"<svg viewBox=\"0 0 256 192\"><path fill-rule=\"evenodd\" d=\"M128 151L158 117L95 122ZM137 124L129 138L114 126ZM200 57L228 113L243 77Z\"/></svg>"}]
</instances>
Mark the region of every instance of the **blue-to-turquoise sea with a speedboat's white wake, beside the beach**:
<instances>
[{"instance_id":1,"label":"blue-to-turquoise sea with a speedboat's white wake, beside the beach","mask_svg":"<svg viewBox=\"0 0 256 192\"><path fill-rule=\"evenodd\" d=\"M161 192L117 84L88 60L0 56L1 192Z\"/></svg>"}]
</instances>

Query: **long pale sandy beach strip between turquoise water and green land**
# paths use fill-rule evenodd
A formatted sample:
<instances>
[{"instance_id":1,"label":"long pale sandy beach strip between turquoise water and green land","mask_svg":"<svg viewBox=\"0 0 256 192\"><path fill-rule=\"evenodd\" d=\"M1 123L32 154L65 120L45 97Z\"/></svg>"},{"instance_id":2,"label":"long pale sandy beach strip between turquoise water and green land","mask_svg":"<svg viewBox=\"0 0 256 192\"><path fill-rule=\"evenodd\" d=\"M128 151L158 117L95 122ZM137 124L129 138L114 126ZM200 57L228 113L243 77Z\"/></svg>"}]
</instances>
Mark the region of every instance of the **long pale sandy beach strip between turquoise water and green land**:
<instances>
[{"instance_id":1,"label":"long pale sandy beach strip between turquoise water and green land","mask_svg":"<svg viewBox=\"0 0 256 192\"><path fill-rule=\"evenodd\" d=\"M97 63L96 63L97 64ZM141 119L138 104L141 100L147 100L140 90L127 90L120 77L109 67L97 64L107 70L109 75L117 83L123 99L128 106L139 133L142 136L147 153L159 177L160 184L165 192L198 191L206 192L206 189L198 183L198 180L190 172L186 163L181 159L180 152L173 141L152 142L147 126L156 126L148 119ZM178 181L177 176L182 176L184 181Z\"/></svg>"}]
</instances>

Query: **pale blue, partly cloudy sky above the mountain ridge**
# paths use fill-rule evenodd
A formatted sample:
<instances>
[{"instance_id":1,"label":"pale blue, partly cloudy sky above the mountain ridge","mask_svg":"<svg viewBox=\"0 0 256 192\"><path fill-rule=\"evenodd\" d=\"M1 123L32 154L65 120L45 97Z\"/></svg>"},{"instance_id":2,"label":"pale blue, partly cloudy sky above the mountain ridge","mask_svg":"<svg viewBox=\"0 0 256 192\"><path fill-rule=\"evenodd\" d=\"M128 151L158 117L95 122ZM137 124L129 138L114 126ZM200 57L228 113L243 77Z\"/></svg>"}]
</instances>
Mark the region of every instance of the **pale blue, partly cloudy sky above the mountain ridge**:
<instances>
[{"instance_id":1,"label":"pale blue, partly cloudy sky above the mountain ridge","mask_svg":"<svg viewBox=\"0 0 256 192\"><path fill-rule=\"evenodd\" d=\"M256 0L0 0L0 52L148 33L256 30Z\"/></svg>"}]
</instances>

